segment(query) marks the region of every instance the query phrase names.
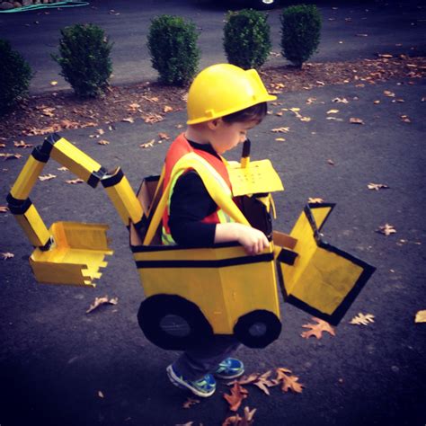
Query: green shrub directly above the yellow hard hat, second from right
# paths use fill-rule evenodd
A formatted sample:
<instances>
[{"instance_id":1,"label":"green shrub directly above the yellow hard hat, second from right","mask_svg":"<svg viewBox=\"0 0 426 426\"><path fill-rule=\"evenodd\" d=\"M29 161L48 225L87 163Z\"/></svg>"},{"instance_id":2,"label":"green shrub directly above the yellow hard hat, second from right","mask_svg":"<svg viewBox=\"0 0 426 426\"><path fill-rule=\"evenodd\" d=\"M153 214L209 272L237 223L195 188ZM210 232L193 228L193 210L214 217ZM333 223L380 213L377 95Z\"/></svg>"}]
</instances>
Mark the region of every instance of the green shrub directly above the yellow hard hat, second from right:
<instances>
[{"instance_id":1,"label":"green shrub directly above the yellow hard hat, second from right","mask_svg":"<svg viewBox=\"0 0 426 426\"><path fill-rule=\"evenodd\" d=\"M226 14L224 48L230 64L244 69L262 67L271 51L267 20L267 14L253 9Z\"/></svg>"}]
</instances>

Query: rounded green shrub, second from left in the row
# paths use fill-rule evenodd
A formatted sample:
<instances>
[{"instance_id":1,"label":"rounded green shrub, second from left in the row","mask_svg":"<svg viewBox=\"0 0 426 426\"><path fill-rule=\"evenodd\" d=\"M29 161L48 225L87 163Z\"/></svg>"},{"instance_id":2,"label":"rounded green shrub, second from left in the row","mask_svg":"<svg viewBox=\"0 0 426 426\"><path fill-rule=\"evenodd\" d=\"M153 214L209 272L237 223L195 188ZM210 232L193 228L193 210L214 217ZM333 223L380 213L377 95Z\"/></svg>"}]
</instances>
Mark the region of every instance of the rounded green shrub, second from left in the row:
<instances>
[{"instance_id":1,"label":"rounded green shrub, second from left in the row","mask_svg":"<svg viewBox=\"0 0 426 426\"><path fill-rule=\"evenodd\" d=\"M75 24L60 31L59 55L52 55L80 97L96 97L108 86L112 43L97 25Z\"/></svg>"}]
</instances>

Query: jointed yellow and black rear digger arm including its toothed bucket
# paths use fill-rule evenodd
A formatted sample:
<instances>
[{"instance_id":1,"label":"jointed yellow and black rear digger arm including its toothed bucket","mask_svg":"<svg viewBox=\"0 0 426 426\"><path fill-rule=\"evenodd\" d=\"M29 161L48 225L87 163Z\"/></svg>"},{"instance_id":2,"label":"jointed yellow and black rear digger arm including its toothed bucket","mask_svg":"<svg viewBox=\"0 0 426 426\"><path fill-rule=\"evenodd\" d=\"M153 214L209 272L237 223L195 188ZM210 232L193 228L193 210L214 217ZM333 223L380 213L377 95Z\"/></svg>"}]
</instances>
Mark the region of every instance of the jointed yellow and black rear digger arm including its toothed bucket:
<instances>
[{"instance_id":1,"label":"jointed yellow and black rear digger arm including its toothed bucket","mask_svg":"<svg viewBox=\"0 0 426 426\"><path fill-rule=\"evenodd\" d=\"M106 236L108 226L56 222L48 229L29 195L50 158L93 188L101 182L125 226L130 222L135 226L143 222L142 206L120 167L108 173L101 164L57 133L36 146L24 164L7 202L13 217L35 248L30 263L36 280L94 287L94 280L101 278L100 270L107 265L105 256L113 253Z\"/></svg>"}]
</instances>

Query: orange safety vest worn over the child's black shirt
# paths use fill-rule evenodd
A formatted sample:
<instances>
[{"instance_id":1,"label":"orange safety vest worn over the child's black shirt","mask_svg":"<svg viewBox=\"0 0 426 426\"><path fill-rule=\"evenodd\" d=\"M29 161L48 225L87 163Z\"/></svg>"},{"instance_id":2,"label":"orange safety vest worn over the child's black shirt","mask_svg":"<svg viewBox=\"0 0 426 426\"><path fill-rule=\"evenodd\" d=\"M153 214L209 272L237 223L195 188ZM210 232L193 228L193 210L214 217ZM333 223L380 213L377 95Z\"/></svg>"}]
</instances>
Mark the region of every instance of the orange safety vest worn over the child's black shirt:
<instances>
[{"instance_id":1,"label":"orange safety vest worn over the child's black shirt","mask_svg":"<svg viewBox=\"0 0 426 426\"><path fill-rule=\"evenodd\" d=\"M163 182L163 190L167 188L167 185L171 179L173 167L174 164L176 164L179 159L182 158L183 155L187 155L189 153L193 153L196 155L200 155L200 161L206 160L215 171L220 175L219 177L223 179L223 182L226 183L227 187L232 193L232 186L231 182L229 180L229 174L226 170L226 164L223 160L217 158L216 155L212 155L206 151L203 151L201 149L193 148L188 140L184 137L183 133L179 135L174 141L173 144L170 146L167 155L165 157L165 164L164 164L164 182ZM164 245L170 245L170 244L176 244L173 240L172 234L170 232L169 227L169 215L170 215L170 201L172 200L172 194L173 194L173 188L176 184L179 177L183 174L191 170L191 168L188 168L187 170L182 171L182 173L178 173L176 176L173 177L173 182L171 184L169 197L167 201L167 207L164 209L163 214L163 229L162 229L162 242ZM201 220L202 223L226 223L226 222L235 222L235 220L232 217L229 217L225 211L220 209L217 206L216 211L211 213L209 216L204 217Z\"/></svg>"}]
</instances>

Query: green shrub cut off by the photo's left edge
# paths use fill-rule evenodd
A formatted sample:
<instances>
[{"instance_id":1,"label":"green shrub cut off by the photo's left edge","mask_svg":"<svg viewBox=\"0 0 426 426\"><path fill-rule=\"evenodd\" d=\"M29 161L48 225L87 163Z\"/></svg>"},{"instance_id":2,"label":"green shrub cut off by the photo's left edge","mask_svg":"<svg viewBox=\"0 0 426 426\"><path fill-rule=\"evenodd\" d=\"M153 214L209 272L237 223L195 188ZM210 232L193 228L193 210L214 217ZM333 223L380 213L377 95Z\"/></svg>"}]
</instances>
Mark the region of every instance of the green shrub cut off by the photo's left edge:
<instances>
[{"instance_id":1,"label":"green shrub cut off by the photo's left edge","mask_svg":"<svg viewBox=\"0 0 426 426\"><path fill-rule=\"evenodd\" d=\"M32 78L31 67L7 40L0 40L0 114L28 93Z\"/></svg>"}]
</instances>

